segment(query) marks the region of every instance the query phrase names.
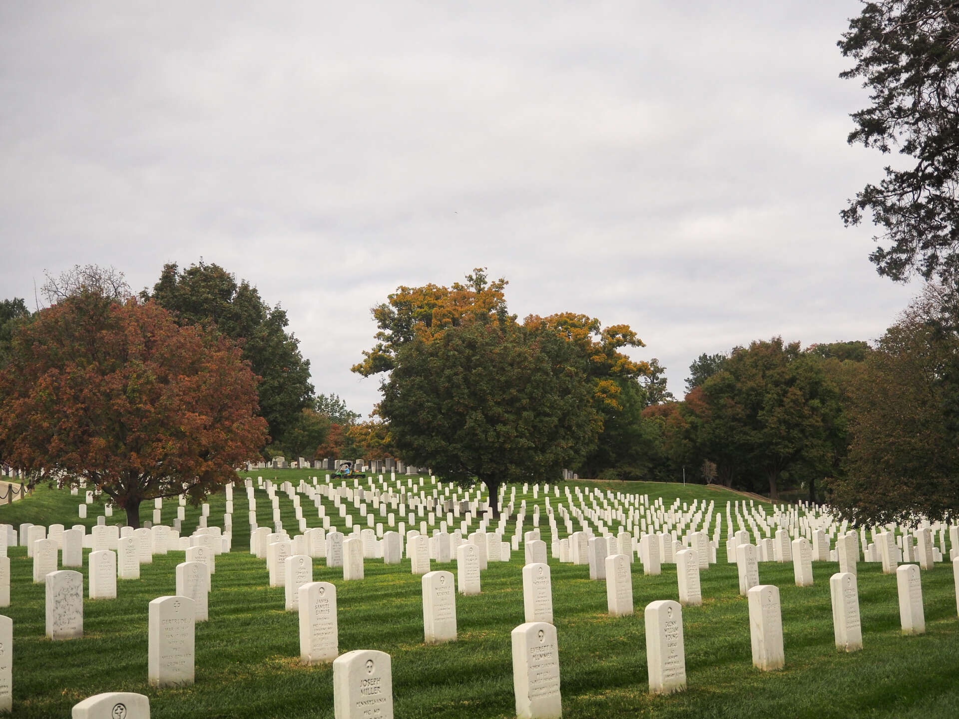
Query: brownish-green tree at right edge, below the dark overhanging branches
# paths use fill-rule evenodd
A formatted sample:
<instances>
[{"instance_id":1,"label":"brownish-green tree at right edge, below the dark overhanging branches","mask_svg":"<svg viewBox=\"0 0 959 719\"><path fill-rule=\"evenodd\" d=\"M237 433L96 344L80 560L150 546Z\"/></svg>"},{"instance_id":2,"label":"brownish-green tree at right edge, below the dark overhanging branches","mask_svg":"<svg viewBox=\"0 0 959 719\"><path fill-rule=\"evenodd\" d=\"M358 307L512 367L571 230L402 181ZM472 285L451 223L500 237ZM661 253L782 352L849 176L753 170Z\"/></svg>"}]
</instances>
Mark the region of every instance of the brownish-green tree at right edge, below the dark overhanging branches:
<instances>
[{"instance_id":1,"label":"brownish-green tree at right edge, below the dark overhanging branches","mask_svg":"<svg viewBox=\"0 0 959 719\"><path fill-rule=\"evenodd\" d=\"M852 378L846 472L830 504L854 522L931 521L959 513L959 444L949 375L959 334L944 332L941 288L929 286Z\"/></svg>"}]
</instances>

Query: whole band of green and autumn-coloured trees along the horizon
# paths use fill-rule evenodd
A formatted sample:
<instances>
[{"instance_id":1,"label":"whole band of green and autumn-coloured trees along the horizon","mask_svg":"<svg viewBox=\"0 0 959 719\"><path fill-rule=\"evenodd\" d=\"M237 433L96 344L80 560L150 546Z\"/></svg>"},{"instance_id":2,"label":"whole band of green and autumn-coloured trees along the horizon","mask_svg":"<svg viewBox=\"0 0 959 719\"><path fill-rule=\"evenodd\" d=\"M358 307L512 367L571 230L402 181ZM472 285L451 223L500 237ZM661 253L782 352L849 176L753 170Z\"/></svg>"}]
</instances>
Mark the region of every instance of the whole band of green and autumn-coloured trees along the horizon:
<instances>
[{"instance_id":1,"label":"whole band of green and autumn-coloured trees along the horizon","mask_svg":"<svg viewBox=\"0 0 959 719\"><path fill-rule=\"evenodd\" d=\"M89 465L130 513L187 475L205 496L256 454L395 456L494 490L563 468L685 478L827 499L863 521L959 506L959 303L945 285L928 285L875 346L777 336L704 353L677 400L657 359L627 354L643 347L628 325L580 313L521 322L506 284L477 269L374 307L377 341L353 369L381 377L383 400L362 421L338 395L315 394L286 313L222 267L168 265L138 294L112 268L75 267L48 280L46 309L0 302L0 453L36 475ZM187 417L199 444L186 441ZM152 489L127 492L135 482L121 475Z\"/></svg>"}]
</instances>

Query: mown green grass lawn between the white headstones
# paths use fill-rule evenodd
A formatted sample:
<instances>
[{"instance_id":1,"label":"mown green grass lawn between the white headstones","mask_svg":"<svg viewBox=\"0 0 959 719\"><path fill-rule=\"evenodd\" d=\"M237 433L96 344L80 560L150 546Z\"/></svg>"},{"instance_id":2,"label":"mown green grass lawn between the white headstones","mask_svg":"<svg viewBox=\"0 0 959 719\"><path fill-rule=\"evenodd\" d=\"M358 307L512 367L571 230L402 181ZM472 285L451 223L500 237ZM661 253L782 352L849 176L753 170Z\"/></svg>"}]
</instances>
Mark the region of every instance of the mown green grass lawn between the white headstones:
<instances>
[{"instance_id":1,"label":"mown green grass lawn between the white headstones","mask_svg":"<svg viewBox=\"0 0 959 719\"><path fill-rule=\"evenodd\" d=\"M295 484L302 476L323 474L259 470L244 476ZM677 497L690 503L713 499L724 515L723 540L726 501L742 499L700 485L565 484L663 497L667 506ZM426 488L433 489L429 479ZM517 500L521 492L522 486ZM262 491L256 497L260 522L267 524L269 501ZM0 506L0 522L92 526L102 505L90 506L84 521L77 518L80 501L82 494L39 488L33 497ZM526 501L530 506L531 494ZM551 492L550 501L558 501ZM542 510L543 494L537 503ZM222 494L210 504L210 523L221 524ZM297 616L283 611L283 589L267 586L265 562L246 551L242 487L235 490L234 504L233 551L217 558L210 621L197 625L196 684L182 689L154 690L147 684L147 605L174 593L181 552L154 557L152 565L141 567L139 580L118 580L117 599L84 600L84 637L55 642L44 635L44 591L32 582L32 560L24 547L11 547L11 606L0 613L13 619L13 716L61 719L92 694L135 691L150 696L154 719L332 717L332 668L300 666ZM312 504L303 504L309 525L319 525ZM359 510L352 503L348 508L359 520ZM152 502L145 503L141 518L149 519L151 509ZM284 526L295 534L292 503L285 497L281 509ZM175 501L167 500L163 511L164 523L172 524ZM336 514L329 504L327 514ZM198 517L199 508L187 507L184 534ZM344 529L339 517L333 522ZM511 535L514 522L507 526ZM525 528L531 528L531 509ZM561 522L560 529L565 535ZM541 530L549 542L545 515ZM865 649L851 655L839 654L833 645L829 577L837 564L814 563L816 583L806 589L794 586L791 564L760 564L760 581L782 593L786 660L784 670L762 673L751 662L748 609L738 595L736 566L726 564L724 545L718 554L719 564L702 573L703 606L683 613L689 689L668 697L647 693L643 608L656 599L678 598L675 566L646 577L637 562L637 615L613 619L606 615L604 582L590 581L587 567L550 559L565 717L959 716L959 619L947 563L923 572L926 634L909 638L900 633L896 578L883 575L878 564L860 564ZM363 581L343 582L341 569L315 559L314 578L337 585L340 653L379 649L391 655L399 719L481 719L514 715L509 633L524 621L522 566L521 545L510 562L491 564L482 573L479 596L457 595L458 640L439 646L423 644L420 577L410 573L409 560L393 567L366 560ZM433 568L455 572L456 564L433 563ZM85 565L83 573L86 591Z\"/></svg>"}]
</instances>

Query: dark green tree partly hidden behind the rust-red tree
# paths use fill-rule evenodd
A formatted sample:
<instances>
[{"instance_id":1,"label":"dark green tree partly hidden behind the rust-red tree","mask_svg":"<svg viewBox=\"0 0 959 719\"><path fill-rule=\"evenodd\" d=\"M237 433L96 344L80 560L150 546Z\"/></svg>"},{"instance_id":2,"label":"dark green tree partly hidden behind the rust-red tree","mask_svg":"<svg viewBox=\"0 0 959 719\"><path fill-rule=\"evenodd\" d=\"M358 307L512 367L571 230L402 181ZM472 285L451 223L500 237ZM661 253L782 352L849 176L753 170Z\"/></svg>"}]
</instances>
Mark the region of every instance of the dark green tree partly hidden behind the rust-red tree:
<instances>
[{"instance_id":1,"label":"dark green tree partly hidden behind the rust-red tree","mask_svg":"<svg viewBox=\"0 0 959 719\"><path fill-rule=\"evenodd\" d=\"M261 378L257 391L269 436L282 447L302 410L314 406L310 361L286 331L287 313L279 305L269 307L246 280L237 283L219 265L202 261L182 270L165 265L152 293L142 294L174 313L180 324L212 325L240 342L244 359Z\"/></svg>"}]
</instances>

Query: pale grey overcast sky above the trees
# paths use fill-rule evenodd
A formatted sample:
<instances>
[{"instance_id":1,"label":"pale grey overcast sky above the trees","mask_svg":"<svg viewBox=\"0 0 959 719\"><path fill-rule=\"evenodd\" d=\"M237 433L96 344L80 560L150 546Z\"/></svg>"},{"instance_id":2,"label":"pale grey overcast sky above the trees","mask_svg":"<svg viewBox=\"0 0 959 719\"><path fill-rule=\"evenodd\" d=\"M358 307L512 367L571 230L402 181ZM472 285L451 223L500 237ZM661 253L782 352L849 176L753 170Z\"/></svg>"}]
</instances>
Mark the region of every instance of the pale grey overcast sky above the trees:
<instances>
[{"instance_id":1,"label":"pale grey overcast sky above the trees","mask_svg":"<svg viewBox=\"0 0 959 719\"><path fill-rule=\"evenodd\" d=\"M887 157L827 2L0 4L2 295L202 257L281 303L317 392L369 308L473 267L627 323L681 396L752 339L873 339L915 288L839 210Z\"/></svg>"}]
</instances>

